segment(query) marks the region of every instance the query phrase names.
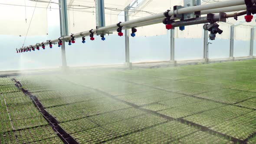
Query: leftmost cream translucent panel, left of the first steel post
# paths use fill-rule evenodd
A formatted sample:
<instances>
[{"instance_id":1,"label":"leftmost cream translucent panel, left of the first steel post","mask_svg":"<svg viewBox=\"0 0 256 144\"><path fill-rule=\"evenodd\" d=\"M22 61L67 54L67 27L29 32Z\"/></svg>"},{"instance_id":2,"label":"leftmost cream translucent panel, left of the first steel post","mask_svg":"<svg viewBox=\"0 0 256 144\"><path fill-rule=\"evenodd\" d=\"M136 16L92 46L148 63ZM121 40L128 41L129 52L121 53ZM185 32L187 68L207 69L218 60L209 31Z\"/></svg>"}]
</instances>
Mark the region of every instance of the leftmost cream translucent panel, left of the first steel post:
<instances>
[{"instance_id":1,"label":"leftmost cream translucent panel, left of the first steel post","mask_svg":"<svg viewBox=\"0 0 256 144\"><path fill-rule=\"evenodd\" d=\"M6 22L1 23L1 35L25 36L29 26L28 36L48 33L46 11L48 3L36 3L31 0L1 0L0 3L1 21ZM30 23L32 15L33 19Z\"/></svg>"}]
</instances>

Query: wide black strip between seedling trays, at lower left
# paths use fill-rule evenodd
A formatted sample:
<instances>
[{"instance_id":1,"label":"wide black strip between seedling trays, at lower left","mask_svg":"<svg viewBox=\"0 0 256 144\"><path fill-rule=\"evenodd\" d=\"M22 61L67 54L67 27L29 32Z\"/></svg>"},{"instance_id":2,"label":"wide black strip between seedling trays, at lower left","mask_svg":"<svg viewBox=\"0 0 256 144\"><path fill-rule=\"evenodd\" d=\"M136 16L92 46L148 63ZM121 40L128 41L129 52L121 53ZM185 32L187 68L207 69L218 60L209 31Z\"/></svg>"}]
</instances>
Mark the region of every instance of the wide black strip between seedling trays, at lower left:
<instances>
[{"instance_id":1,"label":"wide black strip between seedling trays, at lower left","mask_svg":"<svg viewBox=\"0 0 256 144\"><path fill-rule=\"evenodd\" d=\"M16 79L12 79L12 80L16 82L15 85L17 88L19 88L26 96L30 97L30 100L39 110L41 115L43 115L43 118L45 118L45 120L53 128L53 131L55 131L55 133L59 136L59 138L63 141L64 144L79 144L77 141L75 141L73 137L71 137L66 131L64 131L59 126L59 122L44 109L43 105L38 100L38 98L36 98L36 96L32 95L30 92L22 88L21 83L17 82Z\"/></svg>"}]
</instances>

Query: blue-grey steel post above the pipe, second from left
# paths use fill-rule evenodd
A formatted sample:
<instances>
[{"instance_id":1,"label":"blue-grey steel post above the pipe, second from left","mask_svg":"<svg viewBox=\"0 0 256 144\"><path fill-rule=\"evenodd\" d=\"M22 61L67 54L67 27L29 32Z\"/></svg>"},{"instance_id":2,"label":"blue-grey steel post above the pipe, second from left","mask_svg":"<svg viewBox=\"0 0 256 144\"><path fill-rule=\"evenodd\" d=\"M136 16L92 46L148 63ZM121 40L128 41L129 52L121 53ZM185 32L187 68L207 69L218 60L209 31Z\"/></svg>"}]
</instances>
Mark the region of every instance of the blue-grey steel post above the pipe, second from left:
<instances>
[{"instance_id":1,"label":"blue-grey steel post above the pipe, second from left","mask_svg":"<svg viewBox=\"0 0 256 144\"><path fill-rule=\"evenodd\" d=\"M104 0L95 0L96 26L105 26L105 5Z\"/></svg>"}]
</instances>

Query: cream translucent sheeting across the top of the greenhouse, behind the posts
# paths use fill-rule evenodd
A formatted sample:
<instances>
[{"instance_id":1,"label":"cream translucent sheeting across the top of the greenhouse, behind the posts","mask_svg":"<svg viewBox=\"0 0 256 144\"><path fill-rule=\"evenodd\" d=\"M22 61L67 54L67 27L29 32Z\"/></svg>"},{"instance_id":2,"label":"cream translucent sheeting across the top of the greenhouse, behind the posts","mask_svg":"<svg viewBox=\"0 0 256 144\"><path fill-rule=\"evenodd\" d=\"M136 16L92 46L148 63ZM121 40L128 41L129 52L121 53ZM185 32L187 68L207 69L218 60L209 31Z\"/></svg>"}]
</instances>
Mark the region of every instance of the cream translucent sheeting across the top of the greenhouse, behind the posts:
<instances>
[{"instance_id":1,"label":"cream translucent sheeting across the top of the greenhouse, behind the posts","mask_svg":"<svg viewBox=\"0 0 256 144\"><path fill-rule=\"evenodd\" d=\"M202 0L201 4L216 3L226 0ZM127 7L133 0L105 0L105 24L118 23L118 14ZM94 0L67 0L68 5L68 21L69 33L79 33L81 31L94 29L95 20L95 1ZM154 13L162 13L166 10L173 9L175 5L183 5L183 0L140 0L138 5L134 5L129 12L129 20L138 19L140 17L149 16ZM25 7L26 6L26 7ZM36 7L36 8L35 8ZM4 35L46 35L48 33L49 13L47 8L52 8L58 14L58 0L4 0L0 4L0 12L7 13L1 16L3 22L0 34ZM232 12L231 12L232 13ZM51 13L50 13L51 14ZM30 23L30 20L33 19ZM243 16L236 21L233 18L227 19L227 23L219 23L223 33L218 38L229 39L230 26L244 21ZM55 23L59 25L59 23ZM28 30L28 27L30 29ZM248 40L249 33L255 23L240 23L235 28L235 39ZM176 29L176 38L202 38L203 24L186 26L184 31ZM237 33L237 34L236 34ZM246 33L245 36L239 33ZM248 33L248 34L247 34ZM156 36L167 34L162 23L143 26L138 28L137 36Z\"/></svg>"}]
</instances>

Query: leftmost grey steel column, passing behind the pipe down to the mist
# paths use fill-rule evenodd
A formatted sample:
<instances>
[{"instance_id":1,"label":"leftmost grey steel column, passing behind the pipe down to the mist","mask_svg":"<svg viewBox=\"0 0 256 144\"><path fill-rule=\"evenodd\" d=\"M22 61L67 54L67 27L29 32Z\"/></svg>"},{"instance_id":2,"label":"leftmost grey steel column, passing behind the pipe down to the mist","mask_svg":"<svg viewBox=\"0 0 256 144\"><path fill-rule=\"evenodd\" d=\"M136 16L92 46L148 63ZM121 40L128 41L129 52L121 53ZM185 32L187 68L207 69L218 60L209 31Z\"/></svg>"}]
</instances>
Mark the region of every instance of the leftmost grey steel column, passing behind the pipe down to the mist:
<instances>
[{"instance_id":1,"label":"leftmost grey steel column, passing behind the pipe down to the mist","mask_svg":"<svg viewBox=\"0 0 256 144\"><path fill-rule=\"evenodd\" d=\"M68 27L68 17L67 17L67 1L59 0L59 20L60 20L60 35L67 36L69 34ZM62 68L66 68L66 50L65 42L61 46L61 56L62 56Z\"/></svg>"}]
</instances>

